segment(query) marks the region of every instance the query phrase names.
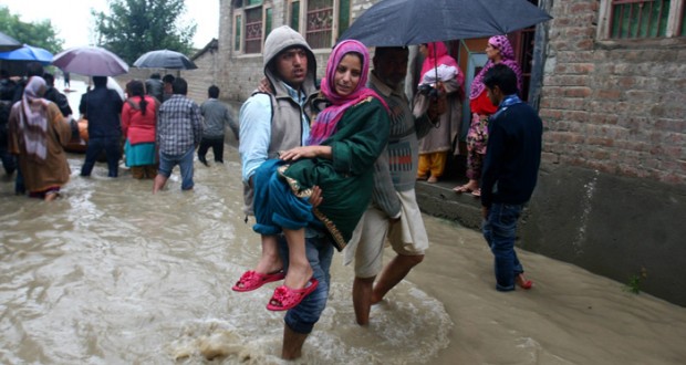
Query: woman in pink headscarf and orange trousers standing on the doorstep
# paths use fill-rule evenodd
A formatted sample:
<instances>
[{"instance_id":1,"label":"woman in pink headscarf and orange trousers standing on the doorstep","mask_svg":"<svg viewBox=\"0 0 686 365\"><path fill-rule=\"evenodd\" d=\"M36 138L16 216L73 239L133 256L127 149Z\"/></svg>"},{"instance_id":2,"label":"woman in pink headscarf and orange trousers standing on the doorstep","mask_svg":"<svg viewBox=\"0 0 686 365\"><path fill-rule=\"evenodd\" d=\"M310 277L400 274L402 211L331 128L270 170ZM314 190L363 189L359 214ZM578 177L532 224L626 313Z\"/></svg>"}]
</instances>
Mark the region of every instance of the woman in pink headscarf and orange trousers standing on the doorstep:
<instances>
[{"instance_id":1,"label":"woman in pink headscarf and orange trousers standing on the doorstep","mask_svg":"<svg viewBox=\"0 0 686 365\"><path fill-rule=\"evenodd\" d=\"M455 59L448 55L443 42L422 44L419 52L424 55L424 64L419 83L419 92L415 96L414 114L426 112L433 90L447 94L448 108L432 131L419 140L419 166L417 180L437 182L443 176L448 152L453 149L460 131L462 83L465 75ZM459 149L455 149L458 154Z\"/></svg>"}]
</instances>

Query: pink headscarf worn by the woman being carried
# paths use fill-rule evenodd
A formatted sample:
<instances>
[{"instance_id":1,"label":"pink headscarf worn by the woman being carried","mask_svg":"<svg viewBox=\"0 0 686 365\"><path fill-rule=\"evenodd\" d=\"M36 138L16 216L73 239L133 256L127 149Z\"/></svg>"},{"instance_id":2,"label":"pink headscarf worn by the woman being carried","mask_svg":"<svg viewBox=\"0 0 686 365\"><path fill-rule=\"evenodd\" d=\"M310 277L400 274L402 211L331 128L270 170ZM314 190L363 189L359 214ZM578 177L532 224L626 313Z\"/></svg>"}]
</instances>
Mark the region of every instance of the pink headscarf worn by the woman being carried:
<instances>
[{"instance_id":1,"label":"pink headscarf worn by the woman being carried","mask_svg":"<svg viewBox=\"0 0 686 365\"><path fill-rule=\"evenodd\" d=\"M360 81L357 86L349 95L342 96L335 92L335 74L336 69L341 60L351 52L355 52L362 55L362 73L360 74ZM318 116L316 121L312 125L310 132L310 138L308 139L309 146L321 144L324 139L329 138L335 131L336 124L345 114L345 111L357 104L358 102L373 96L378 98L381 103L388 108L386 102L376 94L373 90L366 87L367 77L370 72L370 52L367 48L358 41L345 40L333 49L326 63L326 76L322 79L321 92L326 100L331 102L331 105L323 109Z\"/></svg>"}]
</instances>

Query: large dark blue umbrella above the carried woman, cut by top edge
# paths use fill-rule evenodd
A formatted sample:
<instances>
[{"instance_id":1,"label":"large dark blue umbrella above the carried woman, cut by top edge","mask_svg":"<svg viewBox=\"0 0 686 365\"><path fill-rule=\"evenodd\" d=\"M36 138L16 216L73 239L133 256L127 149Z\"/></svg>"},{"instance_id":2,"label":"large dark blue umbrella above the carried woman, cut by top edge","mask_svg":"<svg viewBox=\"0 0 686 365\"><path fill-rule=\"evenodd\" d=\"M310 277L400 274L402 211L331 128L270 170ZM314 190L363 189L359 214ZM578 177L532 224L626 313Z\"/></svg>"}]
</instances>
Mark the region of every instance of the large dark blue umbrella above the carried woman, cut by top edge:
<instances>
[{"instance_id":1,"label":"large dark blue umbrella above the carried woman, cut by top edge","mask_svg":"<svg viewBox=\"0 0 686 365\"><path fill-rule=\"evenodd\" d=\"M401 46L507 34L551 17L527 0L382 0L341 35Z\"/></svg>"}]
</instances>

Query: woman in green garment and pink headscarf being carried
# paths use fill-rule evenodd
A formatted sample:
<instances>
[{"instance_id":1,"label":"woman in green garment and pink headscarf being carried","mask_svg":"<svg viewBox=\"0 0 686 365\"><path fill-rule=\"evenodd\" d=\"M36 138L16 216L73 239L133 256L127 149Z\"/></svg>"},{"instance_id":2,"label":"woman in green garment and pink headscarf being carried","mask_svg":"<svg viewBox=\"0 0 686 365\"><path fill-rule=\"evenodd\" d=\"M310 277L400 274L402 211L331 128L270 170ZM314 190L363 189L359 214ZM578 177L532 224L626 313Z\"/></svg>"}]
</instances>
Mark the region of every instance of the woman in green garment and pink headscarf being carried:
<instances>
[{"instance_id":1,"label":"woman in green garment and pink headscarf being carried","mask_svg":"<svg viewBox=\"0 0 686 365\"><path fill-rule=\"evenodd\" d=\"M383 98L366 87L368 69L364 44L339 43L322 80L323 98L314 102L313 109L320 103L328 106L316 115L308 145L264 161L254 174L253 229L262 234L263 246L276 246L277 234L283 232L289 247L285 282L274 291L269 310L291 309L316 288L305 257L304 228L324 227L342 250L371 201L373 165L386 146L391 122ZM309 198L315 186L322 202L312 208ZM233 290L254 290L282 278L282 272L248 271Z\"/></svg>"}]
</instances>

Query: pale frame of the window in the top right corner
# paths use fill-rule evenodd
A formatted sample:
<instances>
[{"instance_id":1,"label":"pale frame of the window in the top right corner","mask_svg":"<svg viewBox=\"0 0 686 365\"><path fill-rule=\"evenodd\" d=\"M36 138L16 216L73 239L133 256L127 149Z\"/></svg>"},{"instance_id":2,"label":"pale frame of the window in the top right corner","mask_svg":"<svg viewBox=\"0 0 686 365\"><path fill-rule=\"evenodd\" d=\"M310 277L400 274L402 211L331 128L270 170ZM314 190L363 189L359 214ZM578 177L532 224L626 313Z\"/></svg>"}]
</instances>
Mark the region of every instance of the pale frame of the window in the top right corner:
<instances>
[{"instance_id":1,"label":"pale frame of the window in the top right corner","mask_svg":"<svg viewBox=\"0 0 686 365\"><path fill-rule=\"evenodd\" d=\"M664 40L664 39L674 39L674 38L684 38L682 33L682 24L684 22L684 7L686 7L686 0L671 0L669 2L669 13L667 17L667 28L664 36L635 36L635 38L613 38L612 36L612 22L613 22L613 12L612 6L615 1L621 0L601 0L600 8L600 27L597 27L597 39L602 41L654 41L654 40Z\"/></svg>"}]
</instances>

